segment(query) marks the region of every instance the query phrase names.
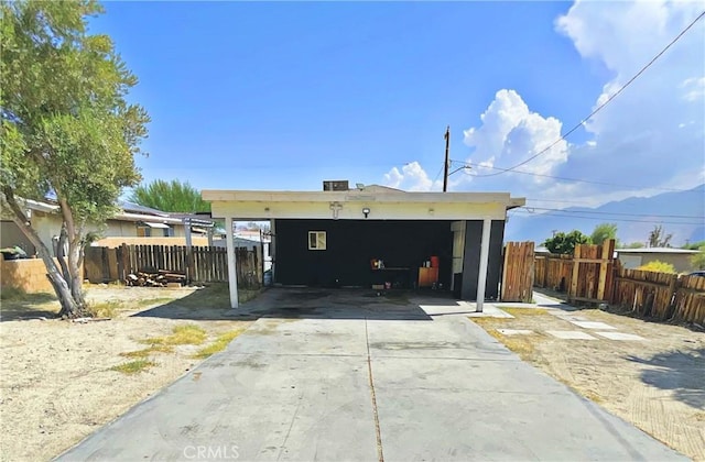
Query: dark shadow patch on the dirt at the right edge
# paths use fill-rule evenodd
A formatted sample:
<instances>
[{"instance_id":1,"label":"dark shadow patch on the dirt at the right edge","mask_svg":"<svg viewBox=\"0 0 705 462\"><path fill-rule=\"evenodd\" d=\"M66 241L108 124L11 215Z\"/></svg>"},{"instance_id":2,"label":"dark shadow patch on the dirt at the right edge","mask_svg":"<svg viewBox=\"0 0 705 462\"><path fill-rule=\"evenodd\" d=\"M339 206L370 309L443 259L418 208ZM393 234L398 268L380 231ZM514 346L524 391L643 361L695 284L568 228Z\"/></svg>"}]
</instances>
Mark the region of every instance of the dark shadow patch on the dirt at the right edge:
<instances>
[{"instance_id":1,"label":"dark shadow patch on the dirt at the right edge","mask_svg":"<svg viewBox=\"0 0 705 462\"><path fill-rule=\"evenodd\" d=\"M671 351L650 359L627 356L643 364L641 382L661 389L672 389L673 396L691 407L705 409L705 348Z\"/></svg>"}]
</instances>

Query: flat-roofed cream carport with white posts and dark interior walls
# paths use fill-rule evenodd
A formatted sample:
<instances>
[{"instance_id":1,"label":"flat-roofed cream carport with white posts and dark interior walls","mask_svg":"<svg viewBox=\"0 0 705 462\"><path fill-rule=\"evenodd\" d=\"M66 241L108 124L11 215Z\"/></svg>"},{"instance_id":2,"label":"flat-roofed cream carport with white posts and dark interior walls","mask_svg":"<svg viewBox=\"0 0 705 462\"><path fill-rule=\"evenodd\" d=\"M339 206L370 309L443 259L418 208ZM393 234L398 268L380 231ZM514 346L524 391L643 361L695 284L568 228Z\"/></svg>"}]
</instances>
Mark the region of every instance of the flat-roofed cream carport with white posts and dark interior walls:
<instances>
[{"instance_id":1,"label":"flat-roofed cream carport with white posts and dark interior walls","mask_svg":"<svg viewBox=\"0 0 705 462\"><path fill-rule=\"evenodd\" d=\"M478 305L498 297L507 210L523 206L523 198L329 185L306 193L205 190L203 198L226 229L234 221L270 221L274 284L417 287L432 280ZM381 268L373 264L379 260ZM235 308L235 272L229 276Z\"/></svg>"}]
</instances>

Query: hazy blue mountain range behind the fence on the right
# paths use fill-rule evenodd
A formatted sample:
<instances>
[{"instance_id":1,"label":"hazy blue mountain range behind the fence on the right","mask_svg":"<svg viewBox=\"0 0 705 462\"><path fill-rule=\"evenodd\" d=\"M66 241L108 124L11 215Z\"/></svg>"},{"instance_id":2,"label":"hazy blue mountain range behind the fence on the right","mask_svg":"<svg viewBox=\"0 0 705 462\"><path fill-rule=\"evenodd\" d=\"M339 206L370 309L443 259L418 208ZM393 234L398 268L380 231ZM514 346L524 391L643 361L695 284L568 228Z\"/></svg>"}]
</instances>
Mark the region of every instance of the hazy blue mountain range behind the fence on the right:
<instances>
[{"instance_id":1,"label":"hazy blue mountain range behind the fence on the right","mask_svg":"<svg viewBox=\"0 0 705 462\"><path fill-rule=\"evenodd\" d=\"M542 208L557 209L554 206ZM509 212L507 241L542 243L554 231L579 230L590 234L599 223L616 223L621 243L646 243L649 233L662 226L673 234L672 246L705 241L705 185L690 190L664 193L651 197L630 197L597 208L571 207L555 210L523 209Z\"/></svg>"}]
</instances>

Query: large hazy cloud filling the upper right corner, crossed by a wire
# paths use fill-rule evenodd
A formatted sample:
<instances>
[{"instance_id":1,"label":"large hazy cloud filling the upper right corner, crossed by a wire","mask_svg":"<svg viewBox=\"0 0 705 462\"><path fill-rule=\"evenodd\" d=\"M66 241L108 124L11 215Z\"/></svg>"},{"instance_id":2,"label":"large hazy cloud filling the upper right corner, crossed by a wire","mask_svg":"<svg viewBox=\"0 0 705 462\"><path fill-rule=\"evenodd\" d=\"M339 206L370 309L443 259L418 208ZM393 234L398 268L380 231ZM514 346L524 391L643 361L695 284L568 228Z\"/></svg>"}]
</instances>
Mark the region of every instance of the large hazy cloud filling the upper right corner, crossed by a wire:
<instances>
[{"instance_id":1,"label":"large hazy cloud filling the upper right corner, crossed by a wire","mask_svg":"<svg viewBox=\"0 0 705 462\"><path fill-rule=\"evenodd\" d=\"M621 88L701 12L680 1L576 1L556 31L585 59L612 73L595 107ZM696 23L587 124L593 148L575 146L567 168L583 177L687 189L705 168L705 55L703 21ZM626 194L627 191L625 191Z\"/></svg>"}]
</instances>

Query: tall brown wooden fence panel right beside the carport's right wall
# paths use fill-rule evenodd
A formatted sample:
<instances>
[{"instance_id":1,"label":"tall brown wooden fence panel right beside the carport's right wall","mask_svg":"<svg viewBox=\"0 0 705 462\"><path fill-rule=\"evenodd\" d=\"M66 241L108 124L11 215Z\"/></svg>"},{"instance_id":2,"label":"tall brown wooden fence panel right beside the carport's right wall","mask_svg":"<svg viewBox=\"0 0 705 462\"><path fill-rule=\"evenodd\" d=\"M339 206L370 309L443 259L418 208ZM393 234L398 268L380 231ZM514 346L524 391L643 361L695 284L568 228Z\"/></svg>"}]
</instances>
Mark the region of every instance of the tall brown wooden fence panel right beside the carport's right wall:
<instances>
[{"instance_id":1,"label":"tall brown wooden fence panel right beside the carport's right wall","mask_svg":"<svg viewBox=\"0 0 705 462\"><path fill-rule=\"evenodd\" d=\"M502 301L531 302L533 265L533 242L507 242L502 270Z\"/></svg>"}]
</instances>

